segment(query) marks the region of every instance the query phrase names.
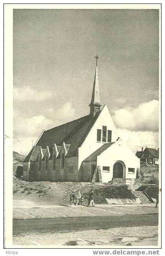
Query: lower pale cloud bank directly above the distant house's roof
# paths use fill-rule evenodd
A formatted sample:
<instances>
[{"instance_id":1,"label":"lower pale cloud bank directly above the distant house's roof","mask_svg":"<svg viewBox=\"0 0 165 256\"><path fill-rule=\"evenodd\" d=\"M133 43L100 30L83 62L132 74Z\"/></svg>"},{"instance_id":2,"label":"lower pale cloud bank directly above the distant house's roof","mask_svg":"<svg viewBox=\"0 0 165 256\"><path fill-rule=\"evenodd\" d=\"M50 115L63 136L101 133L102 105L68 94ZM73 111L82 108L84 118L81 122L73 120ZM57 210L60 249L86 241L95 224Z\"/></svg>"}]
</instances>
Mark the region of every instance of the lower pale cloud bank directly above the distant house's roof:
<instances>
[{"instance_id":1,"label":"lower pale cloud bank directly above the distant house's roof","mask_svg":"<svg viewBox=\"0 0 165 256\"><path fill-rule=\"evenodd\" d=\"M118 136L134 152L140 151L141 147L158 148L158 132L152 131L129 131L117 129Z\"/></svg>"}]
</instances>

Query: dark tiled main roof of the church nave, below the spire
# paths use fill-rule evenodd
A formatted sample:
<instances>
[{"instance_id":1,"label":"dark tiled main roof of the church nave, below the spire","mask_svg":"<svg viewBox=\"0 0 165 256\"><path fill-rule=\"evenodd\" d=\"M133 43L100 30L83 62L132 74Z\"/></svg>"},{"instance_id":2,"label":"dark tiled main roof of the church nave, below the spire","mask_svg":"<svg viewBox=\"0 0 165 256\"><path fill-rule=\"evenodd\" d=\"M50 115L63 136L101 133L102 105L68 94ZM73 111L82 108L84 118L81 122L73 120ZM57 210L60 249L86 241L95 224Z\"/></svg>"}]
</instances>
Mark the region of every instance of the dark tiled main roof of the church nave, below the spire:
<instances>
[{"instance_id":1,"label":"dark tiled main roof of the church nave, below the spire","mask_svg":"<svg viewBox=\"0 0 165 256\"><path fill-rule=\"evenodd\" d=\"M56 143L56 145L58 145L57 150L59 151L63 141L65 144L70 144L66 157L77 156L78 147L82 145L101 111L96 112L93 118L91 118L90 115L86 115L72 122L44 131L34 147L35 150L33 149L29 152L28 156L25 158L25 162L35 161L31 160L32 155L35 155L33 151L37 154L40 147L46 149L46 146L49 146L51 154L54 144ZM35 159L35 157L32 158Z\"/></svg>"}]
</instances>

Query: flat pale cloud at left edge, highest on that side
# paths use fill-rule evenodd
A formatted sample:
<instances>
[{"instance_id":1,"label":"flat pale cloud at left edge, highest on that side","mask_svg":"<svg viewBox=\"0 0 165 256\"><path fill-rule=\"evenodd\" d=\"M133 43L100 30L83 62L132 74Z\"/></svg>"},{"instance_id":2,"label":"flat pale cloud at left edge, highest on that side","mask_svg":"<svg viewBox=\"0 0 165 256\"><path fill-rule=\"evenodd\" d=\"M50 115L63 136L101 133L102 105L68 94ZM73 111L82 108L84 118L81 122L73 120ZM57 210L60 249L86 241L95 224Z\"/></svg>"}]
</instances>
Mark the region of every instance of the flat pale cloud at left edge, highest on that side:
<instances>
[{"instance_id":1,"label":"flat pale cloud at left edge, highest on that side","mask_svg":"<svg viewBox=\"0 0 165 256\"><path fill-rule=\"evenodd\" d=\"M54 94L51 91L38 91L29 86L27 87L14 87L13 88L13 97L19 101L33 100L33 101L42 101L51 99L54 97Z\"/></svg>"}]
</instances>

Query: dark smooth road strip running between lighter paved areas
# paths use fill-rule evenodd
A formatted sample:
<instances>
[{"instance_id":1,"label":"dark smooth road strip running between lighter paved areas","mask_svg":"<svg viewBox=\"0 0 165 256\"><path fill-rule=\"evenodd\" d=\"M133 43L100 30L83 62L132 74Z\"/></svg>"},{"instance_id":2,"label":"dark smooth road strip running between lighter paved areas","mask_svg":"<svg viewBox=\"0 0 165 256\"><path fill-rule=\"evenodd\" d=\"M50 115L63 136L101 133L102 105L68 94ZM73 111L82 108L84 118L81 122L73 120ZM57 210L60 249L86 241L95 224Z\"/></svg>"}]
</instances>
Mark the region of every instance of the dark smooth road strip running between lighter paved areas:
<instances>
[{"instance_id":1,"label":"dark smooth road strip running between lighter paved areas","mask_svg":"<svg viewBox=\"0 0 165 256\"><path fill-rule=\"evenodd\" d=\"M158 214L13 219L13 234L70 232L115 227L155 226Z\"/></svg>"}]
</instances>

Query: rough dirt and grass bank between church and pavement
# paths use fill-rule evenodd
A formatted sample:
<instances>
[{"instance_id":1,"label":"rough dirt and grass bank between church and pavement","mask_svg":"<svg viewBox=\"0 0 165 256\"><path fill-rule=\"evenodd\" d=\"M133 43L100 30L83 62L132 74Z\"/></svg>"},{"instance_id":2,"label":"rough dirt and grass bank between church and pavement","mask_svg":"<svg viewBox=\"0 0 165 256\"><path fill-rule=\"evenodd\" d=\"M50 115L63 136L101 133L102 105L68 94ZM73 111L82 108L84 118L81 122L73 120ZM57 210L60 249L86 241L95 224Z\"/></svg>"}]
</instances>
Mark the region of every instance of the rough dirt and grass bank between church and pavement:
<instances>
[{"instance_id":1,"label":"rough dirt and grass bank between church and pavement","mask_svg":"<svg viewBox=\"0 0 165 256\"><path fill-rule=\"evenodd\" d=\"M13 181L13 200L26 200L38 204L69 204L70 193L80 189L87 204L89 190L95 191L95 202L107 204L105 198L134 198L126 186L93 186L87 182L26 182Z\"/></svg>"}]
</instances>

